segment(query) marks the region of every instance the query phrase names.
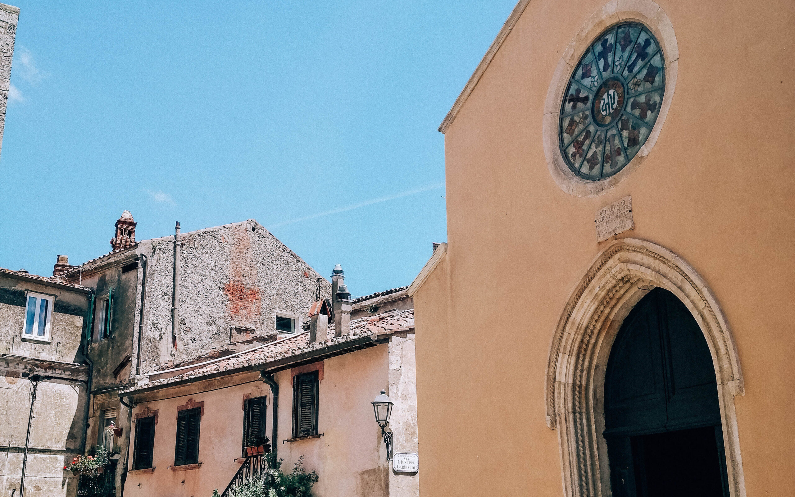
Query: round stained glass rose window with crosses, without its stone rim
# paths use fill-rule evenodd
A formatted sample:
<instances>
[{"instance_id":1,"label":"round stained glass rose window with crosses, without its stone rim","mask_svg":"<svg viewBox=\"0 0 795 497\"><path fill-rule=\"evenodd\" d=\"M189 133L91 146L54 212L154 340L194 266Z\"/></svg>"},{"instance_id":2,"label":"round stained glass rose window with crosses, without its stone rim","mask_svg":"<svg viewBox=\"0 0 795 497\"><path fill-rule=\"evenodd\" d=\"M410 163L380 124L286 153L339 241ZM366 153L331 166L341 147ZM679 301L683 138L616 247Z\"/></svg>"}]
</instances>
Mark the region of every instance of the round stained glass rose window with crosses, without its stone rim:
<instances>
[{"instance_id":1,"label":"round stained glass rose window with crosses, without its stone rim","mask_svg":"<svg viewBox=\"0 0 795 497\"><path fill-rule=\"evenodd\" d=\"M664 91L665 60L646 26L625 22L599 35L560 107L560 153L569 169L597 181L629 164L649 138Z\"/></svg>"}]
</instances>

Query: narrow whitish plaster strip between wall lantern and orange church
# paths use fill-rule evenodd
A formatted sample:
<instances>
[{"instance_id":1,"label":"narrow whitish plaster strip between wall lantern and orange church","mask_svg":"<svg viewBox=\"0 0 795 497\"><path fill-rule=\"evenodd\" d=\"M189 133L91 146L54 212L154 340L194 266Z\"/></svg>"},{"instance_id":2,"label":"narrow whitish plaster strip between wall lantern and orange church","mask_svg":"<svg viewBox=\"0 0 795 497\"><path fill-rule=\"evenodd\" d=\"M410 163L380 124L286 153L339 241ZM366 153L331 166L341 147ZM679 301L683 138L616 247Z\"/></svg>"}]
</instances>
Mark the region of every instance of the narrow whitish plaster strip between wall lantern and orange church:
<instances>
[{"instance_id":1,"label":"narrow whitish plaster strip between wall lantern and orange church","mask_svg":"<svg viewBox=\"0 0 795 497\"><path fill-rule=\"evenodd\" d=\"M417 362L414 335L392 336L390 339L389 396L394 407L390 418L393 452L419 453L417 433ZM390 472L390 497L417 497L420 479L417 475L396 475Z\"/></svg>"}]
</instances>

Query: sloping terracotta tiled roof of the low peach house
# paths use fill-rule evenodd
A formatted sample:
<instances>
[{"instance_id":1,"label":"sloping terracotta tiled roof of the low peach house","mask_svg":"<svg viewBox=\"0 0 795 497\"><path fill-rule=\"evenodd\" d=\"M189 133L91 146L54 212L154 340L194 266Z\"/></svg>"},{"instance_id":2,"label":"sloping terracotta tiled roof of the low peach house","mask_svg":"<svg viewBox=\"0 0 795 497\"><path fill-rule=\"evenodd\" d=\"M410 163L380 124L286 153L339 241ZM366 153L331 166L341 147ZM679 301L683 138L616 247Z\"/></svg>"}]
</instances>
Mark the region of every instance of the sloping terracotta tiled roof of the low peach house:
<instances>
[{"instance_id":1,"label":"sloping terracotta tiled roof of the low peach house","mask_svg":"<svg viewBox=\"0 0 795 497\"><path fill-rule=\"evenodd\" d=\"M157 379L145 382L137 386L132 386L124 390L126 393L134 393L136 390L150 388L152 386L164 386L169 383L182 380L200 380L205 375L215 375L223 371L235 372L246 367L267 367L268 363L276 360L286 359L293 355L300 355L308 351L320 351L335 344L343 344L347 341L356 340L366 336L376 337L390 335L394 332L408 331L414 328L414 309L405 311L393 309L386 313L366 316L358 320L351 321L351 332L343 336L334 336L334 326L329 324L326 340L318 344L309 344L309 332L301 332L295 336L277 340L270 344L253 348L234 356L221 358L211 363L204 364L196 369L190 367L179 368L173 371L175 374L169 378ZM188 371L179 374L180 369ZM162 375L166 371L155 371L151 375Z\"/></svg>"}]
</instances>

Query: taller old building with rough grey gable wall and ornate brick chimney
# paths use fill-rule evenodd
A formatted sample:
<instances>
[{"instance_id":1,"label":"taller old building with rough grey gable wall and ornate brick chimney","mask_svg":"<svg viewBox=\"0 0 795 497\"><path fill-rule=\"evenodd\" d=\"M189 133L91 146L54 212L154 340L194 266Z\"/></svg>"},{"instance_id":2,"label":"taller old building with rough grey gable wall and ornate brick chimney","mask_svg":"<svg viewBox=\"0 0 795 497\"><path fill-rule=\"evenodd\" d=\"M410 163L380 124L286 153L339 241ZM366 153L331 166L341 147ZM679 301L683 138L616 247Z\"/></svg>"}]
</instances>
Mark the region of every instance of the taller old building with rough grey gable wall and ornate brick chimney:
<instances>
[{"instance_id":1,"label":"taller old building with rough grey gable wall and ornate brick chimney","mask_svg":"<svg viewBox=\"0 0 795 497\"><path fill-rule=\"evenodd\" d=\"M164 366L293 336L306 309L331 290L254 219L188 233L177 223L175 235L144 241L136 241L135 227L123 212L110 253L80 266L59 255L53 269L65 282L91 289L87 440L107 445L121 461L118 492L131 426L130 407L118 398L123 386ZM121 437L107 435L111 424L122 429Z\"/></svg>"}]
</instances>

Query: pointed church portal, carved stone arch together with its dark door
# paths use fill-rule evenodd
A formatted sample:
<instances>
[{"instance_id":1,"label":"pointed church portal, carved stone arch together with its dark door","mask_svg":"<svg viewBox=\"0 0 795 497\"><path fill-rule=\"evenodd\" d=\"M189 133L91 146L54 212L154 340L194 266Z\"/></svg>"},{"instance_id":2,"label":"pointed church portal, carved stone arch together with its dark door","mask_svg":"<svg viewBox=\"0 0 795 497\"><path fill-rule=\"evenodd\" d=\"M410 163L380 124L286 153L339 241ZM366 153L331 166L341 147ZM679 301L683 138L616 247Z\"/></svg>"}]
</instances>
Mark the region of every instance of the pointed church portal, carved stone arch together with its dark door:
<instances>
[{"instance_id":1,"label":"pointed church portal, carved stone arch together with its dark door","mask_svg":"<svg viewBox=\"0 0 795 497\"><path fill-rule=\"evenodd\" d=\"M678 320L674 332L671 320ZM656 358L646 371L657 375L657 382L647 375L643 383L630 371L638 380L631 391L619 377L638 360L638 343L644 340L641 356ZM689 345L674 351L665 345L671 340L689 340ZM681 361L677 367L671 359L677 353L695 357L692 368L685 371ZM679 398L670 388L677 374L686 376L681 381L689 388ZM695 430L684 433L688 443L701 440L706 450L712 440L710 450L716 456L723 451L725 462L709 471L719 468L723 491L744 497L734 405L735 395L743 394L734 341L704 280L663 247L617 240L599 254L569 297L549 352L547 425L558 431L567 497L626 495L621 475L611 485L611 464L614 472L626 472L627 461L641 451L638 444L676 445L675 436L663 434L681 436L681 429ZM633 417L644 409L646 416ZM641 440L644 436L649 440Z\"/></svg>"}]
</instances>

